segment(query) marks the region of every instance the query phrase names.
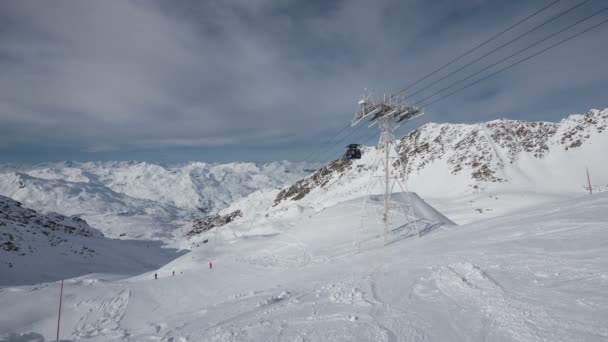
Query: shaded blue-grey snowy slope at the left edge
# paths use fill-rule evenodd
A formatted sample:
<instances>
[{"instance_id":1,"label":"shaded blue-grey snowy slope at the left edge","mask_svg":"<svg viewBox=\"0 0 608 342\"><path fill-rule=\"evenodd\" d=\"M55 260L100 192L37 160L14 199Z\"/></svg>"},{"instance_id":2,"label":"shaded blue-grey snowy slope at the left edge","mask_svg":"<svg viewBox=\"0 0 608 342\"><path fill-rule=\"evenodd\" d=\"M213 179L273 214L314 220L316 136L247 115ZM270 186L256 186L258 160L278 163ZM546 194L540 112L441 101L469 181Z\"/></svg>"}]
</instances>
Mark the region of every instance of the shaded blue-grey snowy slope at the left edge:
<instances>
[{"instance_id":1,"label":"shaded blue-grey snowy slope at the left edge","mask_svg":"<svg viewBox=\"0 0 608 342\"><path fill-rule=\"evenodd\" d=\"M94 272L132 274L175 256L158 243L110 240L81 218L43 215L0 196L0 286Z\"/></svg>"}]
</instances>

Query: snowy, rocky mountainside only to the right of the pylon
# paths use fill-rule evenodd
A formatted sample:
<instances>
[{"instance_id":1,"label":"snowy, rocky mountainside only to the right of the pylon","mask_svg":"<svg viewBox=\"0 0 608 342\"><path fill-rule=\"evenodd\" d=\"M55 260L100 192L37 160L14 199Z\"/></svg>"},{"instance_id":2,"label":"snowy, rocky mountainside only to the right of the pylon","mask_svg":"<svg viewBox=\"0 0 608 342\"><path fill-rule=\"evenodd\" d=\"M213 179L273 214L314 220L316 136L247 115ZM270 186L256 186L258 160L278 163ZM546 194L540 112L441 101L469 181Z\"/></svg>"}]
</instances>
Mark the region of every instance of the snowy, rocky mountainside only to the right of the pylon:
<instances>
[{"instance_id":1,"label":"snowy, rocky mountainside only to the right of the pylon","mask_svg":"<svg viewBox=\"0 0 608 342\"><path fill-rule=\"evenodd\" d=\"M604 109L570 115L558 123L427 124L404 137L400 148L411 188L436 196L444 186L460 194L475 186L500 188L500 183L510 189L584 191L586 167L597 185L606 186L608 161L602 156L607 144ZM450 176L437 180L436 165Z\"/></svg>"}]
</instances>

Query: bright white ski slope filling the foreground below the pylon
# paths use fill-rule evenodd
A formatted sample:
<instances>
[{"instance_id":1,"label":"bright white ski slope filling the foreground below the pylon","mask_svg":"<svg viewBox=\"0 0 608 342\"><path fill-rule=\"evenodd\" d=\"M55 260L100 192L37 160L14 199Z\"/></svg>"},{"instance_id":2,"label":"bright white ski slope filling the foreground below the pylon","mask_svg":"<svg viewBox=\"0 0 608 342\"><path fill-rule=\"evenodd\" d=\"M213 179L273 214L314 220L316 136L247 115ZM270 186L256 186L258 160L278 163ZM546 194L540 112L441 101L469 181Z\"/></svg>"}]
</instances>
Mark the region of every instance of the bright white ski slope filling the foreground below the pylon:
<instances>
[{"instance_id":1,"label":"bright white ski slope filling the foreground below the pylon","mask_svg":"<svg viewBox=\"0 0 608 342\"><path fill-rule=\"evenodd\" d=\"M379 226L361 229L361 198L300 209L222 227L152 272L68 280L60 338L608 340L608 193L445 222L386 247ZM444 217L430 209L429 221ZM10 312L0 336L53 340L58 293L58 283L0 289Z\"/></svg>"}]
</instances>

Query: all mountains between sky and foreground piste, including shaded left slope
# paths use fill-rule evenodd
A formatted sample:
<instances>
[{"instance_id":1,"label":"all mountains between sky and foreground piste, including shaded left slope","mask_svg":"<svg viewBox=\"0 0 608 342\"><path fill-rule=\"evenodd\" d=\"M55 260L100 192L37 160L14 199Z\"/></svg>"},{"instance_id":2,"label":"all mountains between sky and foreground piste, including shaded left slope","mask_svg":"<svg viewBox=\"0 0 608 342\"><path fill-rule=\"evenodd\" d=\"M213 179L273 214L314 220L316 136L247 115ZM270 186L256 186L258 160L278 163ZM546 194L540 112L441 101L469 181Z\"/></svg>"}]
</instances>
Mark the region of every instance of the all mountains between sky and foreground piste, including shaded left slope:
<instances>
[{"instance_id":1,"label":"all mountains between sky and foreground piste, including shaded left slope","mask_svg":"<svg viewBox=\"0 0 608 342\"><path fill-rule=\"evenodd\" d=\"M608 190L608 109L557 123L429 123L397 147L390 167L423 199L501 190L583 194L586 169L594 191ZM191 247L223 225L236 229L229 234L271 221L289 227L302 215L380 193L369 184L378 176L374 170L382 171L374 167L382 151L362 149L359 160L340 158L313 173L290 162L1 165L0 286L141 271L174 253L112 238ZM67 264L68 273L57 271Z\"/></svg>"}]
</instances>

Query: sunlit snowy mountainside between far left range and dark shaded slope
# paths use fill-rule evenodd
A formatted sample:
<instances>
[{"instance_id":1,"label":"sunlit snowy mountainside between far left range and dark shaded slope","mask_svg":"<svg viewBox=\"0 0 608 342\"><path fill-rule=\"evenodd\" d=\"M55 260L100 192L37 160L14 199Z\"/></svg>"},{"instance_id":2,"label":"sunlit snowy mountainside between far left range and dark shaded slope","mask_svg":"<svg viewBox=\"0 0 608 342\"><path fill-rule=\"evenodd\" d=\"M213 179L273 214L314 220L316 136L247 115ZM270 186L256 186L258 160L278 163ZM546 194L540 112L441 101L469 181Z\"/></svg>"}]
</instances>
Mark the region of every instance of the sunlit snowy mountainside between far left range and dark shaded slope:
<instances>
[{"instance_id":1,"label":"sunlit snowy mountainside between far left range and dark shaded slope","mask_svg":"<svg viewBox=\"0 0 608 342\"><path fill-rule=\"evenodd\" d=\"M133 198L97 182L42 179L26 173L0 174L0 194L42 212L79 216L109 237L169 240L186 210Z\"/></svg>"}]
</instances>

